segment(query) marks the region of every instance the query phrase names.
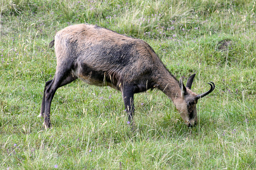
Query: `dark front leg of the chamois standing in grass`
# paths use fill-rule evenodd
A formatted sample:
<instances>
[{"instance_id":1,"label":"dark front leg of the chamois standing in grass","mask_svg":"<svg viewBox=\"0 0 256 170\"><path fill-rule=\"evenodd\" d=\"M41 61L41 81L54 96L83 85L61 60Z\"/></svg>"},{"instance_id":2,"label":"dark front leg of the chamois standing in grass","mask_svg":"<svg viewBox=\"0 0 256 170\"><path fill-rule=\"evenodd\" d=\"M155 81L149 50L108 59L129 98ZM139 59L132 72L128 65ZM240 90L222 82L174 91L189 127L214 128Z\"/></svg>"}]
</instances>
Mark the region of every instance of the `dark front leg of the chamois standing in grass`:
<instances>
[{"instance_id":1,"label":"dark front leg of the chamois standing in grass","mask_svg":"<svg viewBox=\"0 0 256 170\"><path fill-rule=\"evenodd\" d=\"M124 85L122 88L122 95L124 100L124 107L128 115L128 121L132 124L134 115L134 88L133 85Z\"/></svg>"}]
</instances>

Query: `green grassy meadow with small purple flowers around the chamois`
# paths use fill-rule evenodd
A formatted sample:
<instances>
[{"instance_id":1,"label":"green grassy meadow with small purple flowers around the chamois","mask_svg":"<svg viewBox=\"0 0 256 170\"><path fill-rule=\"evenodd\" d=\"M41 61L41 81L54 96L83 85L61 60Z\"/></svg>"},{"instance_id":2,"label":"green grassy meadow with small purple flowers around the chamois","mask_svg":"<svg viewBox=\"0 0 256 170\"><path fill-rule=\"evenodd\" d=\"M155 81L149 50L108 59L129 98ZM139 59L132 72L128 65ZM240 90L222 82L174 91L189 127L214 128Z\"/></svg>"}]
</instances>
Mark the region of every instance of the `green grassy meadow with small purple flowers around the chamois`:
<instances>
[{"instance_id":1,"label":"green grassy meadow with small purple flowers around the chamois","mask_svg":"<svg viewBox=\"0 0 256 170\"><path fill-rule=\"evenodd\" d=\"M0 169L256 168L255 1L78 2L0 1ZM154 89L135 95L132 133L120 92L78 80L57 90L45 130L36 116L56 67L47 45L78 23L143 39L177 78L197 73L196 93L214 82L198 126Z\"/></svg>"}]
</instances>

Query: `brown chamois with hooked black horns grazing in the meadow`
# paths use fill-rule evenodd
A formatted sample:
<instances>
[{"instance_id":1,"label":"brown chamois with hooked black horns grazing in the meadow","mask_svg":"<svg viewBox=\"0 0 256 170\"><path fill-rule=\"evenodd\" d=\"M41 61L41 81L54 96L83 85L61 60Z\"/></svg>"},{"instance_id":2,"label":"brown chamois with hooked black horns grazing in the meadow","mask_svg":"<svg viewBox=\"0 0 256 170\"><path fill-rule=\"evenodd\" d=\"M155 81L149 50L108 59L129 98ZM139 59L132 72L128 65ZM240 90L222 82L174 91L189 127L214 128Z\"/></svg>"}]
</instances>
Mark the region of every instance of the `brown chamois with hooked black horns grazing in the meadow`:
<instances>
[{"instance_id":1,"label":"brown chamois with hooked black horns grazing in the meadow","mask_svg":"<svg viewBox=\"0 0 256 170\"><path fill-rule=\"evenodd\" d=\"M191 85L195 74L178 81L164 66L154 50L144 41L121 35L99 26L79 24L60 30L50 48L55 45L57 67L52 80L45 83L41 112L44 128L51 127L50 109L56 90L80 78L90 85L109 85L122 92L128 120L134 115L133 95L158 88L178 109L184 122L196 125L198 99L213 91L197 95Z\"/></svg>"}]
</instances>

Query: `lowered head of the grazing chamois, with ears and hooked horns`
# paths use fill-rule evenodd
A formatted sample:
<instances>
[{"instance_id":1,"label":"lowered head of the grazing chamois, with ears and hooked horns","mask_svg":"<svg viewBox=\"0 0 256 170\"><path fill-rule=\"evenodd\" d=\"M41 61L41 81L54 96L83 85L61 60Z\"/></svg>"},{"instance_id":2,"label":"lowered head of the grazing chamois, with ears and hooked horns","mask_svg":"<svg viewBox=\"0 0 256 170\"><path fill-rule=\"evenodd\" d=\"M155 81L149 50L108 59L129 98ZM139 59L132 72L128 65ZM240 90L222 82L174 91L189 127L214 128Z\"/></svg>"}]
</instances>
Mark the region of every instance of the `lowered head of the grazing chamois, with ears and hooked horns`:
<instances>
[{"instance_id":1,"label":"lowered head of the grazing chamois, with ears and hooked horns","mask_svg":"<svg viewBox=\"0 0 256 170\"><path fill-rule=\"evenodd\" d=\"M176 102L176 108L178 109L180 116L184 120L185 124L190 126L196 126L197 124L197 111L196 111L196 104L198 102L198 99L203 98L204 96L208 95L210 92L212 92L215 88L214 83L210 82L208 83L211 86L211 89L207 92L204 92L202 94L196 94L191 91L191 86L194 80L196 74L191 75L188 78L187 85L185 86L183 84L182 78L180 78L179 86L180 86L180 98L177 99Z\"/></svg>"}]
</instances>

